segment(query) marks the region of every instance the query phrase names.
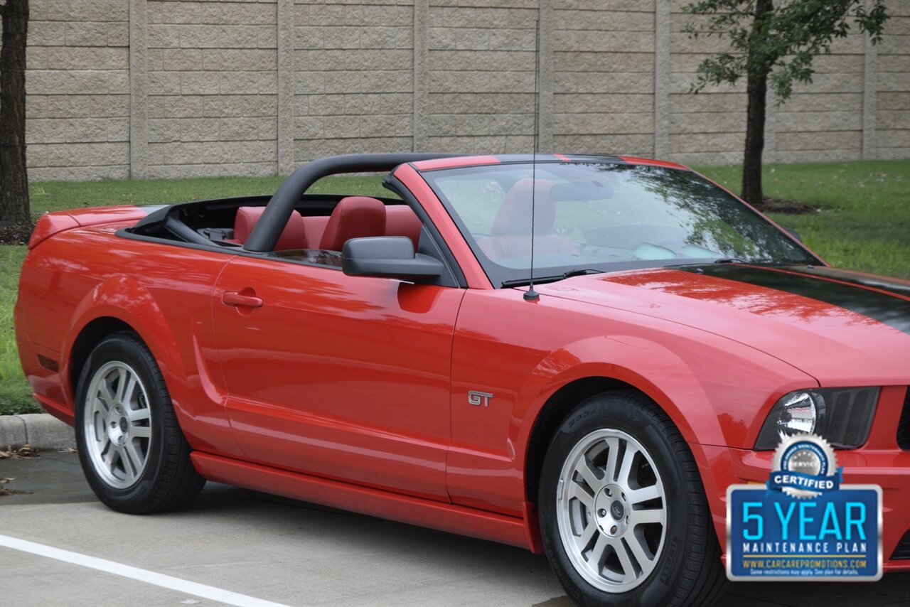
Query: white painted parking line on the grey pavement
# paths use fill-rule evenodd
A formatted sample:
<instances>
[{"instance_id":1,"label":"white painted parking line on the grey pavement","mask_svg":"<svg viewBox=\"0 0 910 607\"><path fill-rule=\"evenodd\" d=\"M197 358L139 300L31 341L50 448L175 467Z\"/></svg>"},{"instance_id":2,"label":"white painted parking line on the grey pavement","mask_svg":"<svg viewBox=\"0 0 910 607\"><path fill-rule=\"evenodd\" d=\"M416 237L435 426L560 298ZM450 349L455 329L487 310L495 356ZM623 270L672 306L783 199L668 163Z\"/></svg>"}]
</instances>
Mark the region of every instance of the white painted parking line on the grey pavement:
<instances>
[{"instance_id":1,"label":"white painted parking line on the grey pavement","mask_svg":"<svg viewBox=\"0 0 910 607\"><path fill-rule=\"evenodd\" d=\"M171 577L170 575L149 572L145 569L139 569L138 567L130 567L129 565L98 559L94 556L88 556L87 554L61 550L59 548L54 548L53 546L35 543L34 541L19 540L18 538L11 538L8 535L0 534L0 546L18 551L31 552L32 554L44 556L48 559L70 562L74 565L79 565L80 567L96 569L99 572L113 573L114 575L120 575L139 582L161 586L162 588L169 588L170 590L177 592L186 592L187 594L193 594L204 599L224 602L228 605L237 605L237 607L288 607L279 602L263 601L262 599L257 599L253 596L247 596L246 594L230 592L221 588L216 588L215 586L207 586L206 584L197 582L187 582L186 580Z\"/></svg>"}]
</instances>

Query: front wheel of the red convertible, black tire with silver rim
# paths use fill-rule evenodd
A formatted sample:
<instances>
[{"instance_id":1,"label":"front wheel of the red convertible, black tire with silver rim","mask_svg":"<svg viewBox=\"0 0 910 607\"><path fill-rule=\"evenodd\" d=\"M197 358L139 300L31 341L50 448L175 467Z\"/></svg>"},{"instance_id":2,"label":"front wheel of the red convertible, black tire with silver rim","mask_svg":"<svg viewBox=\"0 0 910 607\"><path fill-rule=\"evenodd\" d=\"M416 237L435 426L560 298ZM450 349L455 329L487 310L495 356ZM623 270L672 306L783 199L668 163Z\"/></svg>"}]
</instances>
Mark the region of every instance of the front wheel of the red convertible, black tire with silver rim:
<instances>
[{"instance_id":1,"label":"front wheel of the red convertible, black tire with silver rim","mask_svg":"<svg viewBox=\"0 0 910 607\"><path fill-rule=\"evenodd\" d=\"M613 475L606 472L639 448L644 453L631 456L633 471L623 477L614 463ZM602 477L591 477L591 470ZM585 473L595 481L589 484ZM616 478L626 484L614 484ZM633 503L642 488L662 496ZM653 511L643 514L646 509ZM563 420L544 460L538 511L553 572L579 605L702 606L723 593L722 552L692 452L667 414L642 394L603 393ZM657 518L662 522L651 521ZM625 550L624 561L614 547ZM650 560L636 560L636 553ZM639 577L632 580L627 571Z\"/></svg>"}]
</instances>

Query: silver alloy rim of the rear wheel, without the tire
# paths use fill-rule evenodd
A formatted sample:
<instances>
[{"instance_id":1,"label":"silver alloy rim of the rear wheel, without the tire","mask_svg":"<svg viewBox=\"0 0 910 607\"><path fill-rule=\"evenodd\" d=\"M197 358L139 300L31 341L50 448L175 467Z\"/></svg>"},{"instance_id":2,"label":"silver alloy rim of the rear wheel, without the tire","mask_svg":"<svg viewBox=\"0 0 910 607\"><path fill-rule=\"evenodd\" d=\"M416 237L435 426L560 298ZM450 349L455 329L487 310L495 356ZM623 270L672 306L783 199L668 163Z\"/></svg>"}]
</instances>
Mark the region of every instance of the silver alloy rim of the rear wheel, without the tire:
<instances>
[{"instance_id":1,"label":"silver alloy rim of the rear wheel, without the tire","mask_svg":"<svg viewBox=\"0 0 910 607\"><path fill-rule=\"evenodd\" d=\"M134 369L113 360L96 370L82 431L92 466L110 487L131 487L146 470L151 421L146 387Z\"/></svg>"}]
</instances>

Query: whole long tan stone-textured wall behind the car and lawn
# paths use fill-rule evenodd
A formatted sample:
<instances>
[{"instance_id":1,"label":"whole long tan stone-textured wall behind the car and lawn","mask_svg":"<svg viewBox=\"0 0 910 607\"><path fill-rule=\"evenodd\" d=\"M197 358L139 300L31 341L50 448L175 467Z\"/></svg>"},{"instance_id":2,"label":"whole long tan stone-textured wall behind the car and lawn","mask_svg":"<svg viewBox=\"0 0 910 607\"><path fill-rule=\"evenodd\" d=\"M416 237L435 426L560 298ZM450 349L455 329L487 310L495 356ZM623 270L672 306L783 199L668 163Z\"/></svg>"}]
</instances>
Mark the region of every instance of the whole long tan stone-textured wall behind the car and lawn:
<instances>
[{"instance_id":1,"label":"whole long tan stone-textured wall behind the car and lawn","mask_svg":"<svg viewBox=\"0 0 910 607\"><path fill-rule=\"evenodd\" d=\"M743 86L688 93L716 38L682 0L32 0L29 176L287 174L351 152L739 161ZM910 157L910 0L816 59L767 161Z\"/></svg>"}]
</instances>

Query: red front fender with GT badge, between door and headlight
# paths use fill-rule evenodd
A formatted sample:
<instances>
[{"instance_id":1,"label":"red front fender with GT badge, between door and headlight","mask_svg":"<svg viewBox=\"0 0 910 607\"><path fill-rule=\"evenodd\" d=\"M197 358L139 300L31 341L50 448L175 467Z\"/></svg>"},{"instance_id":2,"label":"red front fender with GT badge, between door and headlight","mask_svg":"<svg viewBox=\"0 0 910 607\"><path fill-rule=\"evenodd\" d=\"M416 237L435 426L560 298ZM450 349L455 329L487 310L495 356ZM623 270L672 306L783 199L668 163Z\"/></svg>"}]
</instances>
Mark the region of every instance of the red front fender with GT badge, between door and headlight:
<instances>
[{"instance_id":1,"label":"red front fender with GT badge, between door and headlight","mask_svg":"<svg viewBox=\"0 0 910 607\"><path fill-rule=\"evenodd\" d=\"M817 385L759 350L669 320L469 289L452 348L452 500L520 514L552 433L577 404L561 397L591 395L588 384L572 385L591 378L650 397L696 456L701 444L750 445L774 400ZM471 400L478 393L488 406Z\"/></svg>"}]
</instances>

